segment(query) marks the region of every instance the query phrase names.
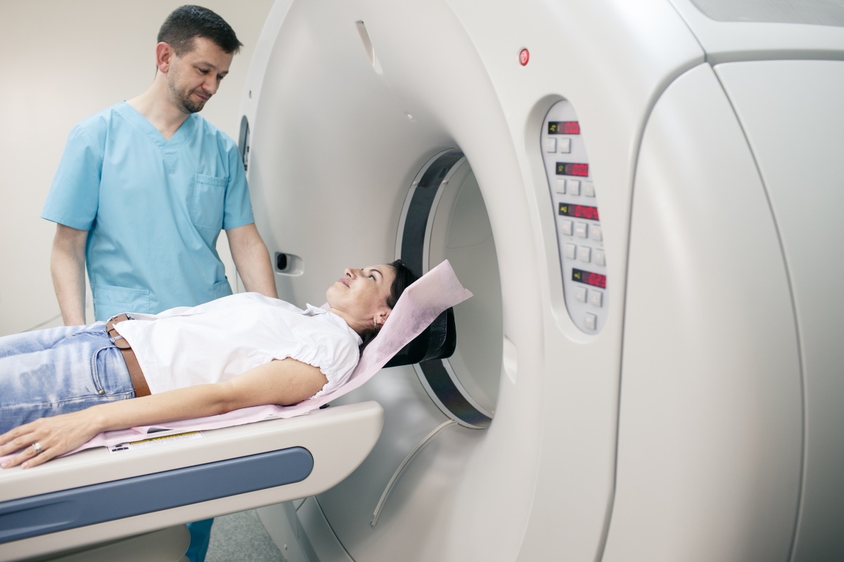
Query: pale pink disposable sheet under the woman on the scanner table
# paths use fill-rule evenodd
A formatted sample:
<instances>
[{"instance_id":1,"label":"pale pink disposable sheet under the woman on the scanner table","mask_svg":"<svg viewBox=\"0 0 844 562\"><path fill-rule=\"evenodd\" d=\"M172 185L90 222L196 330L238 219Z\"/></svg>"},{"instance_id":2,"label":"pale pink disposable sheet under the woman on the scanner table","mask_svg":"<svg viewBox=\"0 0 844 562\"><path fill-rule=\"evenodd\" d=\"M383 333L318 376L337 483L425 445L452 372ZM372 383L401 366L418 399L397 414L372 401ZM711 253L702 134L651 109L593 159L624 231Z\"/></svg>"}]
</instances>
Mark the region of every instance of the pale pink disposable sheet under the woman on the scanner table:
<instances>
[{"instance_id":1,"label":"pale pink disposable sheet under the woman on the scanner table","mask_svg":"<svg viewBox=\"0 0 844 562\"><path fill-rule=\"evenodd\" d=\"M387 364L393 355L407 345L434 319L459 302L472 297L472 293L463 288L452 270L448 260L430 270L403 292L396 306L392 309L381 333L366 346L360 356L358 366L354 368L349 381L332 393L317 399L303 400L290 406L252 406L236 409L228 414L212 415L193 420L170 421L156 426L133 427L127 430L106 431L95 436L83 446L66 454L73 454L90 447L104 447L119 443L139 441L150 436L166 436L184 431L211 430L220 427L240 426L255 421L273 418L290 418L307 414L345 393L351 392L368 381L381 367ZM152 431L152 432L151 432Z\"/></svg>"}]
</instances>

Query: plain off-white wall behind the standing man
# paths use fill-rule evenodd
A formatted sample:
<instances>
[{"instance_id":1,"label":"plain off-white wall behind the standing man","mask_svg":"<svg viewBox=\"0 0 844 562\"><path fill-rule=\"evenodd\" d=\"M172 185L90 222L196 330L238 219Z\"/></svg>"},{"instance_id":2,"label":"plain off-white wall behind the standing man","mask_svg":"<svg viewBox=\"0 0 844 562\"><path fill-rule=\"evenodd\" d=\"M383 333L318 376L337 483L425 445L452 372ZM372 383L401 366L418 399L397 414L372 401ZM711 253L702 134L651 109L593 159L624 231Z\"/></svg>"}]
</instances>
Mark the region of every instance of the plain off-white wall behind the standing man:
<instances>
[{"instance_id":1,"label":"plain off-white wall behind the standing man","mask_svg":"<svg viewBox=\"0 0 844 562\"><path fill-rule=\"evenodd\" d=\"M40 215L68 132L149 86L158 29L183 3L0 0L0 335L61 324L49 264L55 225ZM203 110L235 140L243 85L272 3L201 3L228 21L245 45ZM225 235L220 239L234 284Z\"/></svg>"}]
</instances>

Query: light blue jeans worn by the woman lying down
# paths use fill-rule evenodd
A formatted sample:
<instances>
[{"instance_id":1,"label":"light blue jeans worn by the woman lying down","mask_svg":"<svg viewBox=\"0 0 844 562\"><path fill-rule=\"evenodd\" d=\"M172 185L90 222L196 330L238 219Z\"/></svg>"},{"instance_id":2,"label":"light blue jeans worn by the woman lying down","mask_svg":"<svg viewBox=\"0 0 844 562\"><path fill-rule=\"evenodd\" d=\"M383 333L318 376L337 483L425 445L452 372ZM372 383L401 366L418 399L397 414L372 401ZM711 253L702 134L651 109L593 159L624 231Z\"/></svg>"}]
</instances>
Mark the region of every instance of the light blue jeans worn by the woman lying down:
<instances>
[{"instance_id":1,"label":"light blue jeans worn by the woman lying down","mask_svg":"<svg viewBox=\"0 0 844 562\"><path fill-rule=\"evenodd\" d=\"M134 397L126 361L105 322L0 338L0 433Z\"/></svg>"}]
</instances>

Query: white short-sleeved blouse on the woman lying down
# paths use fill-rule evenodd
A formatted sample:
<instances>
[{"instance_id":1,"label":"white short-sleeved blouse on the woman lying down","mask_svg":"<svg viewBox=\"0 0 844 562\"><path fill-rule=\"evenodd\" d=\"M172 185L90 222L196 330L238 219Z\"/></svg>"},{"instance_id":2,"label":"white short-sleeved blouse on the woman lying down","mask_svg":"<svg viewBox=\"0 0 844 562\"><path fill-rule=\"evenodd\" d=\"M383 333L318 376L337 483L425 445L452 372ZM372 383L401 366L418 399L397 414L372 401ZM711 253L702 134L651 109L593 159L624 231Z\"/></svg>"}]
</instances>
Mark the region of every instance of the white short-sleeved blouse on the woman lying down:
<instances>
[{"instance_id":1,"label":"white short-sleeved blouse on the woman lying down","mask_svg":"<svg viewBox=\"0 0 844 562\"><path fill-rule=\"evenodd\" d=\"M222 383L254 367L292 357L328 383L312 398L342 386L359 360L360 336L322 308L241 292L160 314L130 314L116 324L132 345L151 393Z\"/></svg>"}]
</instances>

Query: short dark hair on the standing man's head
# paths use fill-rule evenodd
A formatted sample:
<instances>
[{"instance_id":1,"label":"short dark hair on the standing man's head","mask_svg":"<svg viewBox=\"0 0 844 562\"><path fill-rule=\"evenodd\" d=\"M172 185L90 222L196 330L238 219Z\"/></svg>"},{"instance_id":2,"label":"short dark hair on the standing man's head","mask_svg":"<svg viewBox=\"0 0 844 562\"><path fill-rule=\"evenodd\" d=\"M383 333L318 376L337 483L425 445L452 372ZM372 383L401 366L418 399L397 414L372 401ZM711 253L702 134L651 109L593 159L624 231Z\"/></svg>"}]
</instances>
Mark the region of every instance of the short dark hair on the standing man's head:
<instances>
[{"instance_id":1,"label":"short dark hair on the standing man's head","mask_svg":"<svg viewBox=\"0 0 844 562\"><path fill-rule=\"evenodd\" d=\"M228 54L236 54L243 46L225 19L208 8L190 5L176 8L167 16L159 29L158 42L167 43L182 56L193 50L194 37L210 39Z\"/></svg>"}]
</instances>

